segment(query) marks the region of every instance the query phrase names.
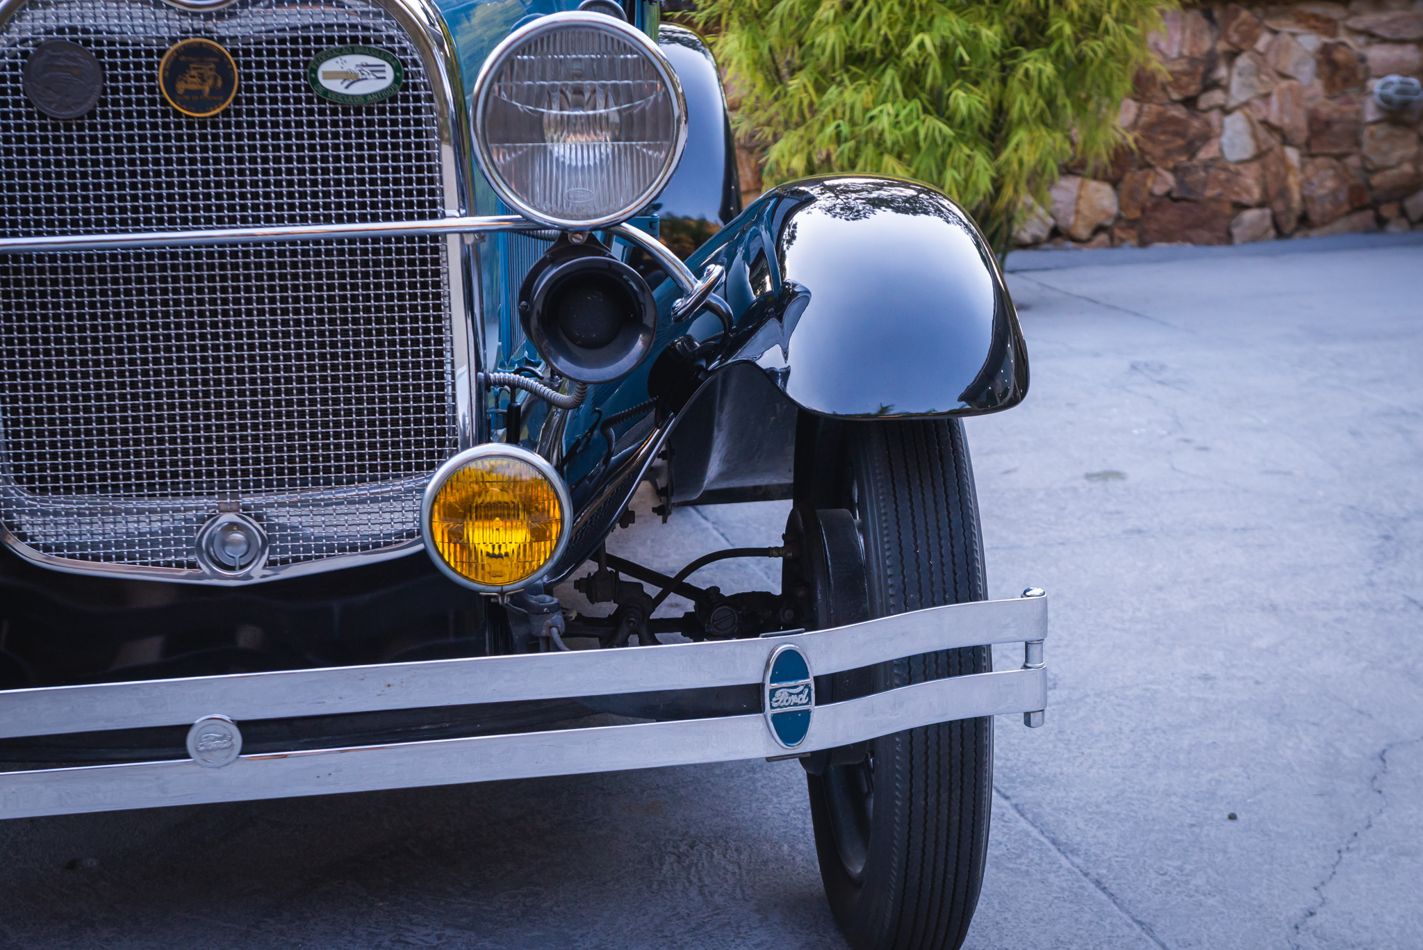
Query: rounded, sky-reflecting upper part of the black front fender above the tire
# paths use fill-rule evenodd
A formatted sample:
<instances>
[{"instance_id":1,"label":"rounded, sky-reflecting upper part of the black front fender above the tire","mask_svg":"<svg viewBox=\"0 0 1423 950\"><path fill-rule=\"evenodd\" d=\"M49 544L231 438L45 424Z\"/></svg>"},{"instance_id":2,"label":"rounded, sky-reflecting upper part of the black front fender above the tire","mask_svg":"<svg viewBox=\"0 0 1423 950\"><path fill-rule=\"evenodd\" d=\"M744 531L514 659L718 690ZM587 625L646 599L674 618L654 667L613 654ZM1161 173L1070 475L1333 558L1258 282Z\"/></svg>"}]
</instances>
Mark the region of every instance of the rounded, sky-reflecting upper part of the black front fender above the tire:
<instances>
[{"instance_id":1,"label":"rounded, sky-reflecting upper part of the black front fender above the tire","mask_svg":"<svg viewBox=\"0 0 1423 950\"><path fill-rule=\"evenodd\" d=\"M988 242L942 192L878 177L761 195L689 261L726 268L727 360L825 416L975 416L1027 395L1027 350ZM700 318L696 336L716 329Z\"/></svg>"}]
</instances>

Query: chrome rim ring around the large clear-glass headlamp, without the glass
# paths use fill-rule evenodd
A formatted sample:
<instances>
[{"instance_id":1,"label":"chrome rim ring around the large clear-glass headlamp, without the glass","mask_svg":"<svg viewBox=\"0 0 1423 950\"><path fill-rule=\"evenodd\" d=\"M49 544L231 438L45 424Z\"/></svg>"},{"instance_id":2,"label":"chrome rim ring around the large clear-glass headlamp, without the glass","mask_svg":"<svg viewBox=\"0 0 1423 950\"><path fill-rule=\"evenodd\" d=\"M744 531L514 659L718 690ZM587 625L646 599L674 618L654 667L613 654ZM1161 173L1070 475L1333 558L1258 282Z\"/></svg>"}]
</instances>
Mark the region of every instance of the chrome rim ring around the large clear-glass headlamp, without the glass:
<instances>
[{"instance_id":1,"label":"chrome rim ring around the large clear-glass headlamp, without the glass","mask_svg":"<svg viewBox=\"0 0 1423 950\"><path fill-rule=\"evenodd\" d=\"M676 134L672 142L672 161L667 162L667 167L662 169L662 174L652 182L652 185L638 197L638 202L635 205L623 208L618 214L603 215L601 218L556 218L529 207L498 174L494 165L494 157L490 154L490 145L482 135L490 84L508 54L522 46L527 40L571 23L583 24L595 30L606 30L632 41L636 46L640 46L647 54L647 58L657 68L662 80L667 84L667 88L672 91L672 107L675 113L673 125L676 127ZM588 13L582 10L549 13L514 30L494 47L488 57L485 57L484 66L480 67L480 74L474 80L471 98L474 101L474 108L470 110L470 138L474 144L474 157L478 161L480 171L484 172L485 181L488 181L490 187L494 188L494 194L498 195L499 201L508 205L511 211L515 211L531 221L551 228L558 228L561 231L593 231L596 228L619 224L636 215L638 211L645 208L652 199L662 194L663 188L667 187L672 175L677 171L677 165L682 164L682 152L687 144L687 100L682 91L682 81L677 78L677 71L646 33L629 23L615 20L613 17L602 13Z\"/></svg>"}]
</instances>

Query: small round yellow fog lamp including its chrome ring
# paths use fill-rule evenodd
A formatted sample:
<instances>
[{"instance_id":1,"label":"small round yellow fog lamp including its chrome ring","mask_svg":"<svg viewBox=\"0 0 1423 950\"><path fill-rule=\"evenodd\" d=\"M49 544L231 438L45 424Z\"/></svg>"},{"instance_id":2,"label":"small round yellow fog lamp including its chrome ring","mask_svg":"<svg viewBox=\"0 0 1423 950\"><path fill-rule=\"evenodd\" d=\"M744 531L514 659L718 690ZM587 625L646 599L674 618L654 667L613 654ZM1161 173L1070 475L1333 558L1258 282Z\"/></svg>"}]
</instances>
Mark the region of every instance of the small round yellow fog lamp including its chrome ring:
<instances>
[{"instance_id":1,"label":"small round yellow fog lamp including its chrome ring","mask_svg":"<svg viewBox=\"0 0 1423 950\"><path fill-rule=\"evenodd\" d=\"M539 580L568 546L568 489L542 457L507 444L467 449L425 487L420 523L454 581L508 594Z\"/></svg>"}]
</instances>

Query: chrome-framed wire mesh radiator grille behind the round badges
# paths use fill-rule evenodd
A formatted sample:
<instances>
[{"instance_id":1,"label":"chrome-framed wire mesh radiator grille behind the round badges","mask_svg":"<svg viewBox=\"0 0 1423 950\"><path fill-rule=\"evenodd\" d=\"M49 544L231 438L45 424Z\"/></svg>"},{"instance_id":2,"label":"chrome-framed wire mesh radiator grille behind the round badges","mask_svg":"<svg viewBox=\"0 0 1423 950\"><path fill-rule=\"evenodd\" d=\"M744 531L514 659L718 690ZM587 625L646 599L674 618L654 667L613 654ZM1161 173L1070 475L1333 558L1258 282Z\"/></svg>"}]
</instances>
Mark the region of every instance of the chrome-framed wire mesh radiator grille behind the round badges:
<instances>
[{"instance_id":1,"label":"chrome-framed wire mesh radiator grille behind the round badges","mask_svg":"<svg viewBox=\"0 0 1423 950\"><path fill-rule=\"evenodd\" d=\"M162 100L164 51L238 61L226 113ZM41 115L41 40L105 68L87 117ZM0 3L0 232L10 236L428 221L465 214L464 93L421 0ZM306 84L333 46L400 56L406 85L342 107ZM334 157L334 161L333 161ZM475 440L472 252L460 235L0 258L0 520L60 570L240 584L421 547L428 476ZM196 533L240 510L266 565L208 574Z\"/></svg>"}]
</instances>

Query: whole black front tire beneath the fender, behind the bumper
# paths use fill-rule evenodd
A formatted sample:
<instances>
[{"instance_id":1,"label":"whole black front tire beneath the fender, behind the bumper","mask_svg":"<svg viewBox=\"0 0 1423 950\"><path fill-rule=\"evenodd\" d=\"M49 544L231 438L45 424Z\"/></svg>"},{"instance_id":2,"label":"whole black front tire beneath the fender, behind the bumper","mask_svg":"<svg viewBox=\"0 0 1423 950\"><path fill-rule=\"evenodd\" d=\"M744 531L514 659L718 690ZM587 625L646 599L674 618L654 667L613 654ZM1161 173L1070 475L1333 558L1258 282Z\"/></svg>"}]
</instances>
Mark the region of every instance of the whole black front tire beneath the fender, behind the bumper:
<instances>
[{"instance_id":1,"label":"whole black front tire beneath the fender, behind the bumper","mask_svg":"<svg viewBox=\"0 0 1423 950\"><path fill-rule=\"evenodd\" d=\"M986 597L959 420L803 417L797 507L803 516L811 507L848 508L864 544L871 617ZM835 518L822 520L832 530ZM830 698L990 668L988 647L925 654L881 664L858 684L832 678ZM807 761L815 849L835 920L857 950L956 949L983 882L993 721L909 729L865 751Z\"/></svg>"}]
</instances>

